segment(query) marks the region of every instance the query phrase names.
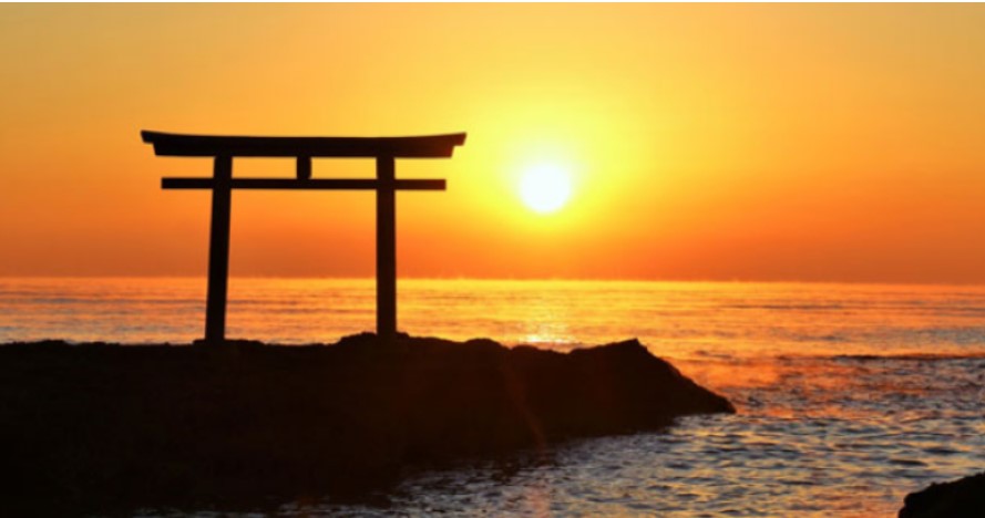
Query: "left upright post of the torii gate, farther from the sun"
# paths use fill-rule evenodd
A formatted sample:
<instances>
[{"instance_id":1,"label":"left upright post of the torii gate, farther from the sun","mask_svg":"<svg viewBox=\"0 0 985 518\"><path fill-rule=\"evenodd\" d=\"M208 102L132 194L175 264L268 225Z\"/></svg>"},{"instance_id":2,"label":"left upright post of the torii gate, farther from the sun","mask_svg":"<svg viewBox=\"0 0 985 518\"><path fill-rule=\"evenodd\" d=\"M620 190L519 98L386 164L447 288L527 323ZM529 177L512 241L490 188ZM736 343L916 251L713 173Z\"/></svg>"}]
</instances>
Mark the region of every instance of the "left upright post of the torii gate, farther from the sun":
<instances>
[{"instance_id":1,"label":"left upright post of the torii gate, farther from the sun","mask_svg":"<svg viewBox=\"0 0 985 518\"><path fill-rule=\"evenodd\" d=\"M212 228L208 236L208 293L205 303L205 341L226 340L226 296L229 279L229 210L233 157L215 157L212 189Z\"/></svg>"}]
</instances>

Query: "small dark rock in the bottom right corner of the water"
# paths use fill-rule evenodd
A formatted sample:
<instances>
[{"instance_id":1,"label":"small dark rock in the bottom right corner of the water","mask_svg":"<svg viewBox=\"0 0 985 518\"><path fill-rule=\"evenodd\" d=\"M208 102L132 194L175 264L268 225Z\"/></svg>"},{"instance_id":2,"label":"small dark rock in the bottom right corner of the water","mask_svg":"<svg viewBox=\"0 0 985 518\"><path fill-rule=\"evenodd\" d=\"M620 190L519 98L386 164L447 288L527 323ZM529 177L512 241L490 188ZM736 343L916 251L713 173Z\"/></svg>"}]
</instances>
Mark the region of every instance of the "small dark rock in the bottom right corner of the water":
<instances>
[{"instance_id":1,"label":"small dark rock in the bottom right corner of the water","mask_svg":"<svg viewBox=\"0 0 985 518\"><path fill-rule=\"evenodd\" d=\"M931 484L903 499L900 518L981 518L985 516L985 472Z\"/></svg>"}]
</instances>

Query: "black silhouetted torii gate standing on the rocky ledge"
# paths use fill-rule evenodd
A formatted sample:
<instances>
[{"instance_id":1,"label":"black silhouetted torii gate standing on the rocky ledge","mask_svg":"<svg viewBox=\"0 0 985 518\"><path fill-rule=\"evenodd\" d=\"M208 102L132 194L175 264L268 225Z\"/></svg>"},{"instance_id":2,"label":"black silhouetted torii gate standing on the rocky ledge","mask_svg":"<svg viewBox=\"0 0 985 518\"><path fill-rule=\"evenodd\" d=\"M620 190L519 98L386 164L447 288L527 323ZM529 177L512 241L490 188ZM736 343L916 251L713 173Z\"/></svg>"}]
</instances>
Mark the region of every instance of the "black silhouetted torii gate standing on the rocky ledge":
<instances>
[{"instance_id":1,"label":"black silhouetted torii gate standing on the rocky ledge","mask_svg":"<svg viewBox=\"0 0 985 518\"><path fill-rule=\"evenodd\" d=\"M386 343L397 336L398 189L444 190L443 179L397 179L396 158L450 157L465 143L464 133L403 137L261 137L177 135L141 132L157 156L212 157L212 178L162 178L164 189L212 189L208 241L208 292L205 342L226 339L226 296L229 277L229 209L233 189L372 189L377 191L377 334ZM233 178L234 157L290 157L297 178ZM311 178L312 157L374 158L376 179Z\"/></svg>"}]
</instances>

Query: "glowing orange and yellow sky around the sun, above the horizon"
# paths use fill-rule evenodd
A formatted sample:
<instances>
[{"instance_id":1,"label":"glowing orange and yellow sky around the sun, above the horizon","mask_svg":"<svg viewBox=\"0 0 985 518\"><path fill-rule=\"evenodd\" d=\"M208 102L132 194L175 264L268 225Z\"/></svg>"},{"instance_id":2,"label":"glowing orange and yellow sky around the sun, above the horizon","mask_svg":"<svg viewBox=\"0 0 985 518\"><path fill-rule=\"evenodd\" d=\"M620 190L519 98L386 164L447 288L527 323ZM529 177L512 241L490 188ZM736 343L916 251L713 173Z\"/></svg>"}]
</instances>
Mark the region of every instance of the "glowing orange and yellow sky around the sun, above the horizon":
<instances>
[{"instance_id":1,"label":"glowing orange and yellow sky around the sun, above the horizon","mask_svg":"<svg viewBox=\"0 0 985 518\"><path fill-rule=\"evenodd\" d=\"M466 132L418 278L985 283L983 4L3 4L0 276L204 276L141 130ZM290 160L237 159L235 176ZM524 204L561 170L554 213ZM315 177L371 177L317 159ZM236 191L234 276L371 277L371 191Z\"/></svg>"}]
</instances>

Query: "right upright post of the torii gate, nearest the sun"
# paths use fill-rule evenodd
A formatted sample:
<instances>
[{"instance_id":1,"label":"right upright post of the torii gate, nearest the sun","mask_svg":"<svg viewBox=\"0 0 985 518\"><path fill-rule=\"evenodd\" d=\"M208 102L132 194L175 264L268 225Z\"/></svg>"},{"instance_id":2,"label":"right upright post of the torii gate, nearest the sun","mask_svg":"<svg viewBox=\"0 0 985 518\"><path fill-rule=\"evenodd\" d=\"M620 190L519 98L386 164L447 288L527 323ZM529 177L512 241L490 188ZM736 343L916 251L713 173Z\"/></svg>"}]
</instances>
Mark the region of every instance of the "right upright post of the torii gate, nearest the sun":
<instances>
[{"instance_id":1,"label":"right upright post of the torii gate, nearest the sun","mask_svg":"<svg viewBox=\"0 0 985 518\"><path fill-rule=\"evenodd\" d=\"M377 157L377 335L397 341L397 211L394 160Z\"/></svg>"}]
</instances>

